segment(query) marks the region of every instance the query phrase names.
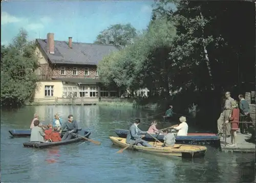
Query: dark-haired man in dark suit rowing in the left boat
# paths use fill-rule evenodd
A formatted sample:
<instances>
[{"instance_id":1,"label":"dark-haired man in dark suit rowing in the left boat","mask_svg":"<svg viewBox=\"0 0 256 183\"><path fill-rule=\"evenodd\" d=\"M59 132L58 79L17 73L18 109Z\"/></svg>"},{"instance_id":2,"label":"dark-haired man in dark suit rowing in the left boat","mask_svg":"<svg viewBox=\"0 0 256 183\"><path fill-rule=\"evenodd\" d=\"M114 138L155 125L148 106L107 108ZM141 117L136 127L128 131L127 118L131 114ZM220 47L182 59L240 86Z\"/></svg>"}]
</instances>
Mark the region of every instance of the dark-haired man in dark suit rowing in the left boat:
<instances>
[{"instance_id":1,"label":"dark-haired man in dark suit rowing in the left boat","mask_svg":"<svg viewBox=\"0 0 256 183\"><path fill-rule=\"evenodd\" d=\"M69 115L68 122L61 126L59 133L61 133L61 131L63 131L65 128L67 128L68 131L63 135L61 141L70 140L73 137L73 133L77 133L78 131L78 125L77 122L74 121L73 115Z\"/></svg>"}]
</instances>

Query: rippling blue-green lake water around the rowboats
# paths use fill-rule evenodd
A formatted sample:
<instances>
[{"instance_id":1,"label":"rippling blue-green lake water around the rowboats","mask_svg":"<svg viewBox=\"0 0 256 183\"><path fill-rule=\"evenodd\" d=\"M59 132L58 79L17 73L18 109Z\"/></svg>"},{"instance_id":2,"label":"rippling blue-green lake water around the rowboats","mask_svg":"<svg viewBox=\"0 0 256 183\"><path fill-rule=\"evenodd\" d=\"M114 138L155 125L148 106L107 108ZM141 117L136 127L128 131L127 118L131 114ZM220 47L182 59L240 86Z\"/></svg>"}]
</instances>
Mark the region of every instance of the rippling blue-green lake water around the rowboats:
<instances>
[{"instance_id":1,"label":"rippling blue-green lake water around the rowboats","mask_svg":"<svg viewBox=\"0 0 256 183\"><path fill-rule=\"evenodd\" d=\"M29 138L10 138L9 129L28 129L37 112L45 124L56 112L63 119L73 114L83 129L90 129L95 145L81 142L47 149L23 147ZM146 130L158 112L103 106L26 106L1 110L1 182L254 182L255 154L224 153L207 147L204 158L166 158L112 145L115 128L128 129L143 118ZM188 123L189 125L189 123ZM167 127L161 123L158 128ZM189 132L200 130L189 126Z\"/></svg>"}]
</instances>

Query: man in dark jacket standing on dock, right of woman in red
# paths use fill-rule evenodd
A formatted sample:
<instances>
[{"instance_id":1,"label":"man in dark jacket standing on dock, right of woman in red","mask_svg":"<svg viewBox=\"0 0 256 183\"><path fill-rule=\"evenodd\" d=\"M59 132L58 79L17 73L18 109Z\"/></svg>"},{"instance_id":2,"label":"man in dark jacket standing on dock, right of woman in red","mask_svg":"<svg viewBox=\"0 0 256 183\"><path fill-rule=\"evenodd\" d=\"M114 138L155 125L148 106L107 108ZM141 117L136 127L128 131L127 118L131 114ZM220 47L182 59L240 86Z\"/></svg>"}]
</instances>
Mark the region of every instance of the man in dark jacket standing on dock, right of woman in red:
<instances>
[{"instance_id":1,"label":"man in dark jacket standing on dock, right of woman in red","mask_svg":"<svg viewBox=\"0 0 256 183\"><path fill-rule=\"evenodd\" d=\"M250 122L250 106L249 103L244 99L243 95L238 96L239 102L239 109L240 109L240 121L241 122ZM240 123L241 132L244 134L248 134L248 123Z\"/></svg>"}]
</instances>

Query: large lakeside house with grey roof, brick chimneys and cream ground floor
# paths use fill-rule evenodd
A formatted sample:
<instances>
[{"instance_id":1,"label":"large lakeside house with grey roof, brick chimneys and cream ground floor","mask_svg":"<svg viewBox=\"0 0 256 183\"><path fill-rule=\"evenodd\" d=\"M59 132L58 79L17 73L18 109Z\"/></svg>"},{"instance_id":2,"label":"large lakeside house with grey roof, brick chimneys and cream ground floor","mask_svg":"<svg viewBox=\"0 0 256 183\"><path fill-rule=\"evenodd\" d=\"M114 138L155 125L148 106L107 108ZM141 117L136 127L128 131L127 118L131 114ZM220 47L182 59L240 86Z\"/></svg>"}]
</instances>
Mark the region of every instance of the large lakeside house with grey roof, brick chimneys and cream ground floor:
<instances>
[{"instance_id":1,"label":"large lakeside house with grey roof, brick chimneys and cream ground floor","mask_svg":"<svg viewBox=\"0 0 256 183\"><path fill-rule=\"evenodd\" d=\"M101 85L97 64L104 56L118 51L113 45L54 40L54 33L47 39L36 39L39 81L33 96L34 102L54 102L75 99L97 102L99 97L120 97L126 89L106 89ZM101 76L102 77L102 76ZM147 96L147 90L140 93Z\"/></svg>"}]
</instances>

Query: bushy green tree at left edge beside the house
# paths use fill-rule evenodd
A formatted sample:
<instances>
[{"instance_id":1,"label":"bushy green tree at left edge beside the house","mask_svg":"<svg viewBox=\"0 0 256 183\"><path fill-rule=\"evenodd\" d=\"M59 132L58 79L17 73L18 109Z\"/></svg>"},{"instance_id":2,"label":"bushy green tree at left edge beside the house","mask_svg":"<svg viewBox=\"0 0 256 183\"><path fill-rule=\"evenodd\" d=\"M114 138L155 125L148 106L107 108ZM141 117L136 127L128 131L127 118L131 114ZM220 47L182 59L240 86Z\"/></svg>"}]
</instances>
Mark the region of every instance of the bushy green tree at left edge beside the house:
<instances>
[{"instance_id":1,"label":"bushy green tree at left edge beside the house","mask_svg":"<svg viewBox=\"0 0 256 183\"><path fill-rule=\"evenodd\" d=\"M35 45L20 30L8 47L1 46L1 105L22 105L36 87Z\"/></svg>"}]
</instances>

